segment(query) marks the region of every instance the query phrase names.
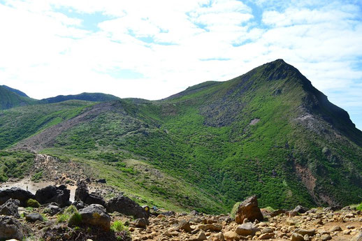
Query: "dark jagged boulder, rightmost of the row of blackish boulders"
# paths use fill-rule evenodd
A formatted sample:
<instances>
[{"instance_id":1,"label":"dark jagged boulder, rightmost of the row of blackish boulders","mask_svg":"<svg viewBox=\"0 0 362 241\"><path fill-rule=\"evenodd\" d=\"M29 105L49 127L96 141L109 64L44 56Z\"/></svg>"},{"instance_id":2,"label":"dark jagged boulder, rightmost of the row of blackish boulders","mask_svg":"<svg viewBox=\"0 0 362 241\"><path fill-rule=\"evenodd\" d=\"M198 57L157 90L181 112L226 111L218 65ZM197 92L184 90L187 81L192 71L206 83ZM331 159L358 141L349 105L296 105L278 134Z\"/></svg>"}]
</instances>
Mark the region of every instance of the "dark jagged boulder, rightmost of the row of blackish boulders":
<instances>
[{"instance_id":1,"label":"dark jagged boulder, rightmost of the row of blackish boulders","mask_svg":"<svg viewBox=\"0 0 362 241\"><path fill-rule=\"evenodd\" d=\"M123 195L110 199L106 207L107 212L120 212L137 219L148 219L147 212L140 205Z\"/></svg>"}]
</instances>

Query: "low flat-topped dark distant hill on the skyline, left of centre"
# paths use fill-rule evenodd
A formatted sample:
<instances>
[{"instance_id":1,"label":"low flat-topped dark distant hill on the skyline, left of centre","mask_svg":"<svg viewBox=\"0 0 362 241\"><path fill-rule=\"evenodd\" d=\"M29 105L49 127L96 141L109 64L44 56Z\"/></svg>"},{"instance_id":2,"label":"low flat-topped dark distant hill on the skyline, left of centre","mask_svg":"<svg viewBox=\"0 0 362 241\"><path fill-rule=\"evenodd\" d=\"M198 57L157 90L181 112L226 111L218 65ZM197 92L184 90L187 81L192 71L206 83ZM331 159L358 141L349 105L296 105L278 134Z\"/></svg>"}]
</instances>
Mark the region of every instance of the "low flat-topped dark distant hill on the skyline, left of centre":
<instances>
[{"instance_id":1,"label":"low flat-topped dark distant hill on the skyline, left of centre","mask_svg":"<svg viewBox=\"0 0 362 241\"><path fill-rule=\"evenodd\" d=\"M59 103L61 101L68 100L80 100L80 101L115 101L120 98L111 94L102 93L82 93L68 96L55 96L51 98L43 98L40 103Z\"/></svg>"}]
</instances>

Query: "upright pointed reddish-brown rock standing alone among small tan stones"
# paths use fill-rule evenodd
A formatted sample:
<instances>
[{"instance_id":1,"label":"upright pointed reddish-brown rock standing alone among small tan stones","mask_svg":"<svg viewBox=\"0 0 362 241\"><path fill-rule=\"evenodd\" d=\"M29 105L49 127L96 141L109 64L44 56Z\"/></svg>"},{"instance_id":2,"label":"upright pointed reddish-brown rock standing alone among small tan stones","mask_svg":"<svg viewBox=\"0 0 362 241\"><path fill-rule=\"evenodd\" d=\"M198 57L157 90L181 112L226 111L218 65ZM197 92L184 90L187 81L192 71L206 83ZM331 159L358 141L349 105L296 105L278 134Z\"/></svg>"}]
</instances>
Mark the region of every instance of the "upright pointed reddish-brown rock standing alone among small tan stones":
<instances>
[{"instance_id":1,"label":"upright pointed reddish-brown rock standing alone among small tan stones","mask_svg":"<svg viewBox=\"0 0 362 241\"><path fill-rule=\"evenodd\" d=\"M261 214L261 210L258 207L256 196L251 196L240 203L238 212L236 212L235 215L235 221L237 224L242 224L244 219L248 219L249 221L254 221L255 219L259 221L263 220L263 214Z\"/></svg>"}]
</instances>

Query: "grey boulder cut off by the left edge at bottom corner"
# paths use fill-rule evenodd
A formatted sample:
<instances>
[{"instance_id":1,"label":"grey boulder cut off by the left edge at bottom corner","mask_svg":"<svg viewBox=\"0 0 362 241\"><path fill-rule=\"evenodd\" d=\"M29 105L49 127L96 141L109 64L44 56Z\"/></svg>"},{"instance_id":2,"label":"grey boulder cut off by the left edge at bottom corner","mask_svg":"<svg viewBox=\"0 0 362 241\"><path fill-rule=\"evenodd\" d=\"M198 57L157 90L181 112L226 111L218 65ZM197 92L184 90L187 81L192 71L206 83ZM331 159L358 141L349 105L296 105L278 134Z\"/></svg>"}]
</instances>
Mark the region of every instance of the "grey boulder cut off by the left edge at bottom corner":
<instances>
[{"instance_id":1,"label":"grey boulder cut off by the left edge at bottom corner","mask_svg":"<svg viewBox=\"0 0 362 241\"><path fill-rule=\"evenodd\" d=\"M20 224L20 221L13 217L0 216L0 240L10 240L12 238L22 240L26 234L27 231Z\"/></svg>"}]
</instances>

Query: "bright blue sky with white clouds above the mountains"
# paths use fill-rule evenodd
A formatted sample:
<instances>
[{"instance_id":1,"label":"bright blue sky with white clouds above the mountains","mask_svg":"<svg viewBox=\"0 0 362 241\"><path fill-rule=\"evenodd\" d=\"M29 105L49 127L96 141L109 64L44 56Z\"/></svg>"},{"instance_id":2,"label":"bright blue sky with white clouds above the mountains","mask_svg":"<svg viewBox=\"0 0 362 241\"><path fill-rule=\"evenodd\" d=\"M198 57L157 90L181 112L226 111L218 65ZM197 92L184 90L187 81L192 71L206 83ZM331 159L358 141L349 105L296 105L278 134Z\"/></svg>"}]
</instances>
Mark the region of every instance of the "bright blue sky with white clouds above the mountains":
<instances>
[{"instance_id":1,"label":"bright blue sky with white clouds above the mountains","mask_svg":"<svg viewBox=\"0 0 362 241\"><path fill-rule=\"evenodd\" d=\"M275 59L362 129L361 0L0 0L0 85L156 100Z\"/></svg>"}]
</instances>

